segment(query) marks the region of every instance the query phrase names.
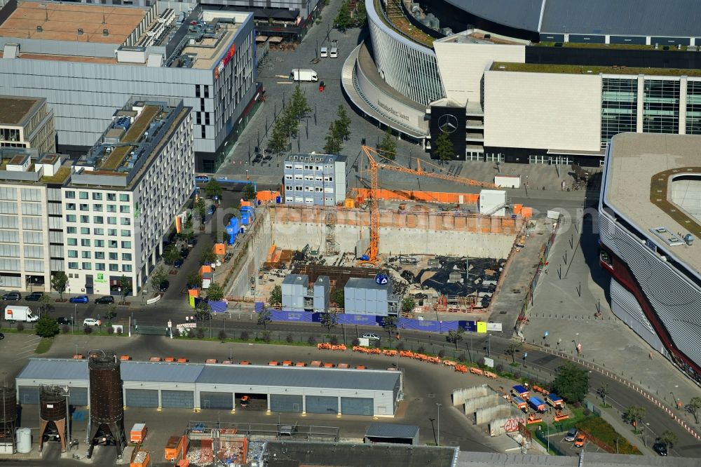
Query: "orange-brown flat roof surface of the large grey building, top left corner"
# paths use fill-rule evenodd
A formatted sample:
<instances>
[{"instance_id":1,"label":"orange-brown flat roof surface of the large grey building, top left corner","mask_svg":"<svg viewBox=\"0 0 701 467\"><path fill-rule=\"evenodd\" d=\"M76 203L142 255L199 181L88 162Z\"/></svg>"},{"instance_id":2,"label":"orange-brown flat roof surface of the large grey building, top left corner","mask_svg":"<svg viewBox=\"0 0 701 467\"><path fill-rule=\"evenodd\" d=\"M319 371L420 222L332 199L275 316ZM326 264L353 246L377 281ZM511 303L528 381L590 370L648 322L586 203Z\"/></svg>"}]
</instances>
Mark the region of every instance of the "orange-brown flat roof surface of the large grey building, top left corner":
<instances>
[{"instance_id":1,"label":"orange-brown flat roof surface of the large grey building, top left corner","mask_svg":"<svg viewBox=\"0 0 701 467\"><path fill-rule=\"evenodd\" d=\"M146 13L144 8L20 1L0 25L0 36L121 44Z\"/></svg>"}]
</instances>

